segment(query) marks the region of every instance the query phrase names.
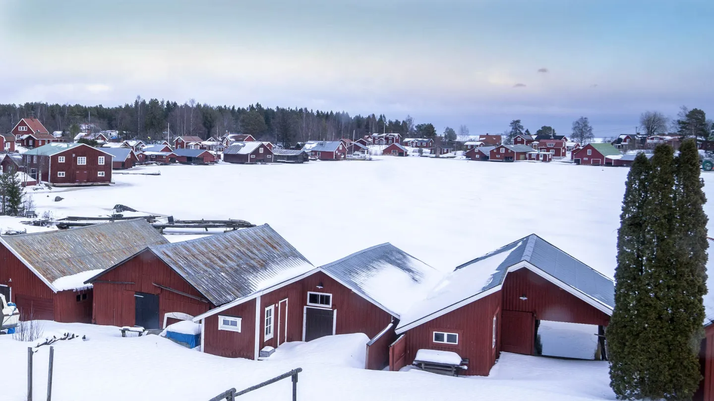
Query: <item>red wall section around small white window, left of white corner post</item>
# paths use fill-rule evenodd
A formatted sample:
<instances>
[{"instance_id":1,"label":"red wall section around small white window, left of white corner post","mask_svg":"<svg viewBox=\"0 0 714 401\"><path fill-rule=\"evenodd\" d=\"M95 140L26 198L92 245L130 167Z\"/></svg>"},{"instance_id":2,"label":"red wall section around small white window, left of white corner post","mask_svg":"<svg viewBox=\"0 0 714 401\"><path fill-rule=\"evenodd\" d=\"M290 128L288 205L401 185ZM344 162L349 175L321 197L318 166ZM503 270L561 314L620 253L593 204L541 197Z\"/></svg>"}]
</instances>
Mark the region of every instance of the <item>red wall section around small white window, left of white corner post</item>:
<instances>
[{"instance_id":1,"label":"red wall section around small white window, left of white corner post","mask_svg":"<svg viewBox=\"0 0 714 401\"><path fill-rule=\"evenodd\" d=\"M241 318L241 333L218 330L218 316ZM223 357L253 359L255 355L256 300L223 310L203 320L203 352Z\"/></svg>"}]
</instances>

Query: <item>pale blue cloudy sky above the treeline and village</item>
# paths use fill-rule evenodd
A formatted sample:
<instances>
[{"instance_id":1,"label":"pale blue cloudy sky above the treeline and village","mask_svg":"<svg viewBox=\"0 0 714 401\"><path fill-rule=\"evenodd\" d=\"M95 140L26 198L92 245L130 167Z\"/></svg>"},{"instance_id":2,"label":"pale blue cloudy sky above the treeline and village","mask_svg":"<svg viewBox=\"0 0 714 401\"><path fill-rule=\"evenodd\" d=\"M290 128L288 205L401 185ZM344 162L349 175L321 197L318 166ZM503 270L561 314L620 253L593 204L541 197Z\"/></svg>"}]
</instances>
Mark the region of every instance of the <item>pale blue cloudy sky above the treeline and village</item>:
<instances>
[{"instance_id":1,"label":"pale blue cloudy sky above the treeline and village","mask_svg":"<svg viewBox=\"0 0 714 401\"><path fill-rule=\"evenodd\" d=\"M0 103L307 107L501 133L714 116L710 0L0 0Z\"/></svg>"}]
</instances>

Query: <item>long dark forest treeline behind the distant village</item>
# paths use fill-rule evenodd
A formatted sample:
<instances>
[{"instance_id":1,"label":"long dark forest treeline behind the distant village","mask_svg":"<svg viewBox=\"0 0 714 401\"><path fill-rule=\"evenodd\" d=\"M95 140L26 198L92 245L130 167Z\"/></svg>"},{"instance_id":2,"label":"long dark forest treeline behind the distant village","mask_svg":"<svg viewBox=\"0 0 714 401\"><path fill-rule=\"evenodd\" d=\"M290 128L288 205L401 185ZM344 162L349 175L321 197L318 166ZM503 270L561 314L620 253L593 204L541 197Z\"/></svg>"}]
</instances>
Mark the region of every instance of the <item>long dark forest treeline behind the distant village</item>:
<instances>
[{"instance_id":1,"label":"long dark forest treeline behind the distant village","mask_svg":"<svg viewBox=\"0 0 714 401\"><path fill-rule=\"evenodd\" d=\"M82 124L94 130L116 130L121 138L161 139L171 136L221 136L226 131L246 133L274 143L293 145L311 140L360 138L369 133L394 132L402 135L435 136L431 123L414 125L411 116L389 120L381 114L350 116L346 112L308 108L265 108L260 103L248 107L211 106L191 99L146 100L137 96L124 106L82 106L79 104L25 103L0 105L0 132L10 131L20 118L35 116L49 131L64 131L67 137L79 133ZM169 128L170 127L170 128Z\"/></svg>"}]
</instances>

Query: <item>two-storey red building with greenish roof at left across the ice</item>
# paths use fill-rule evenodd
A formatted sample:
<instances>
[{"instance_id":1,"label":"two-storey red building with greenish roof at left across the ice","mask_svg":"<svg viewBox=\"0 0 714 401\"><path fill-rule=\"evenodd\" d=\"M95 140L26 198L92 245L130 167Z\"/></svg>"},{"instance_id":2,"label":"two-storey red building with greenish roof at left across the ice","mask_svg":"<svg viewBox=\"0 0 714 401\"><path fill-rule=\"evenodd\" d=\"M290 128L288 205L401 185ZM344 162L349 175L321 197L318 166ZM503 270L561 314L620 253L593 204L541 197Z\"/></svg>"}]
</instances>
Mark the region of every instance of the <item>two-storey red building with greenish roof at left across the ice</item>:
<instances>
[{"instance_id":1,"label":"two-storey red building with greenish roof at left across the ice","mask_svg":"<svg viewBox=\"0 0 714 401\"><path fill-rule=\"evenodd\" d=\"M48 143L22 154L25 172L54 186L109 184L111 158L84 143Z\"/></svg>"}]
</instances>

